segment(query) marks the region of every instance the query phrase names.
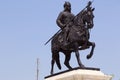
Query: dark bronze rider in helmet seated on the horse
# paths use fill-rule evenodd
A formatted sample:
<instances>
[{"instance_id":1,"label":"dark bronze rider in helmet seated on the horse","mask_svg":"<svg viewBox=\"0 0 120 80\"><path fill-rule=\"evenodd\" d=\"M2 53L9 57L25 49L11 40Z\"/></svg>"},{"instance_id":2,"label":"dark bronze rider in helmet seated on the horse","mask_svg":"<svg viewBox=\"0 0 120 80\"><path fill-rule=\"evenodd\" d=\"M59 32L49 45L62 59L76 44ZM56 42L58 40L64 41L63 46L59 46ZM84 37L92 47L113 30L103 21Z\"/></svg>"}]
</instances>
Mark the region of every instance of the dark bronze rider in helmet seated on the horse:
<instances>
[{"instance_id":1,"label":"dark bronze rider in helmet seated on the horse","mask_svg":"<svg viewBox=\"0 0 120 80\"><path fill-rule=\"evenodd\" d=\"M71 13L71 4L70 2L64 3L64 10L60 12L56 23L61 28L63 32L63 45L67 45L67 35L69 32L69 27L72 25L71 21L74 18L74 14ZM69 25L68 25L69 24Z\"/></svg>"}]
</instances>

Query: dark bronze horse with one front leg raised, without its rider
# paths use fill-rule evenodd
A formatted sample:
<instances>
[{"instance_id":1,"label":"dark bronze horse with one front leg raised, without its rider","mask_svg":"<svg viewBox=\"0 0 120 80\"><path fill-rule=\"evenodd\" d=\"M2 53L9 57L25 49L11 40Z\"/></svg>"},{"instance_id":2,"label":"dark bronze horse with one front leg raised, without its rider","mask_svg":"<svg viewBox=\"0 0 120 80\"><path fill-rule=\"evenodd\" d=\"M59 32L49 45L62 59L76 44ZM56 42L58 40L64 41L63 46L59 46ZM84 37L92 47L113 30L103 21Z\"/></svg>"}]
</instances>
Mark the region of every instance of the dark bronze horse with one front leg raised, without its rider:
<instances>
[{"instance_id":1,"label":"dark bronze horse with one front leg raised, without its rider","mask_svg":"<svg viewBox=\"0 0 120 80\"><path fill-rule=\"evenodd\" d=\"M85 8L80 11L74 19L70 22L72 26L69 27L69 34L67 36L68 45L64 46L62 41L62 32L56 34L51 41L51 52L52 52L52 60L51 60L51 74L53 74L54 64L56 62L59 69L61 69L61 64L59 60L59 52L62 52L65 55L65 66L68 69L72 69L69 64L71 53L75 52L77 62L79 67L85 68L80 60L79 50L88 49L90 46L91 51L90 54L87 55L87 59L91 58L94 52L95 43L90 42L90 34L89 29L93 28L93 11L94 8ZM67 24L69 26L69 23Z\"/></svg>"}]
</instances>

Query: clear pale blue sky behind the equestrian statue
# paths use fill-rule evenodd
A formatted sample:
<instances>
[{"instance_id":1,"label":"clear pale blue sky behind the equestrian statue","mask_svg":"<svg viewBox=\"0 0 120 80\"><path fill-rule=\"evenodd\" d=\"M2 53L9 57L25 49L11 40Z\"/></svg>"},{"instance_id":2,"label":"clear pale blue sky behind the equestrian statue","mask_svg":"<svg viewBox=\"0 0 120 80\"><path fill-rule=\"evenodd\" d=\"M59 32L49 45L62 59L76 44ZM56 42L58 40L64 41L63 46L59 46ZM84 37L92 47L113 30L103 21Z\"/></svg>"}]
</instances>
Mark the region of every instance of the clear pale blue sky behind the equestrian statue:
<instances>
[{"instance_id":1,"label":"clear pale blue sky behind the equestrian statue","mask_svg":"<svg viewBox=\"0 0 120 80\"><path fill-rule=\"evenodd\" d=\"M76 15L88 0L67 0ZM65 0L0 0L0 80L36 80L39 58L39 80L50 74L51 45L44 43L59 28L56 18ZM120 79L120 0L94 0L94 28L90 41L96 43L90 60L90 49L80 51L87 67L100 68L105 74ZM62 70L64 55L60 54ZM70 64L77 67L74 53ZM59 72L55 66L55 72Z\"/></svg>"}]
</instances>

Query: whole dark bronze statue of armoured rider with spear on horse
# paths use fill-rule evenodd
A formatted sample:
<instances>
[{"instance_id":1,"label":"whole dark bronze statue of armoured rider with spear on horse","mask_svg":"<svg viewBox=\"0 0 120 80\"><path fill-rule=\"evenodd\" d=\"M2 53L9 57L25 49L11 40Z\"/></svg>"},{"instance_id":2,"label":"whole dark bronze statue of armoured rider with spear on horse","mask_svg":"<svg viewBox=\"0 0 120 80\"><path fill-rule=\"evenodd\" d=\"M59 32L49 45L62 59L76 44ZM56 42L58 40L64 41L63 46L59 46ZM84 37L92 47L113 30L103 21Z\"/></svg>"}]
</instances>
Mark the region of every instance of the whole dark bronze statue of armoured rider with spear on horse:
<instances>
[{"instance_id":1,"label":"whole dark bronze statue of armoured rider with spear on horse","mask_svg":"<svg viewBox=\"0 0 120 80\"><path fill-rule=\"evenodd\" d=\"M62 52L65 55L64 64L68 69L72 69L69 64L72 52L75 52L78 65L81 68L85 68L85 66L80 60L79 50L88 49L92 46L90 54L87 55L87 59L92 57L95 43L89 41L89 29L92 29L94 26L94 8L91 7L91 4L92 2L89 1L88 5L76 16L74 16L71 13L71 4L69 2L65 2L64 11L61 12L57 18L57 24L61 30L59 30L51 39L48 40L48 42L52 40L51 74L53 74L55 62L58 68L61 69L59 52Z\"/></svg>"}]
</instances>

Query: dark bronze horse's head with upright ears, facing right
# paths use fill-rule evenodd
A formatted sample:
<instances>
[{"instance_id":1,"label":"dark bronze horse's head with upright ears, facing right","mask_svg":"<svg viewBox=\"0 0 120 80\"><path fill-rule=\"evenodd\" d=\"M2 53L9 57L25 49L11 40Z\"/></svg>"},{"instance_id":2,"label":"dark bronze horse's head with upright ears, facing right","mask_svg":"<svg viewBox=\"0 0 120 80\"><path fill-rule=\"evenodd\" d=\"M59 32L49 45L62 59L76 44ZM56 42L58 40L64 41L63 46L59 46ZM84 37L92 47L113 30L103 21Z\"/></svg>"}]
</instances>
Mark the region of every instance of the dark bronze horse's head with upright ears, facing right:
<instances>
[{"instance_id":1,"label":"dark bronze horse's head with upright ears, facing right","mask_svg":"<svg viewBox=\"0 0 120 80\"><path fill-rule=\"evenodd\" d=\"M94 18L94 11L95 8L88 7L83 13L83 23L87 25L87 28L93 28L93 18Z\"/></svg>"}]
</instances>

